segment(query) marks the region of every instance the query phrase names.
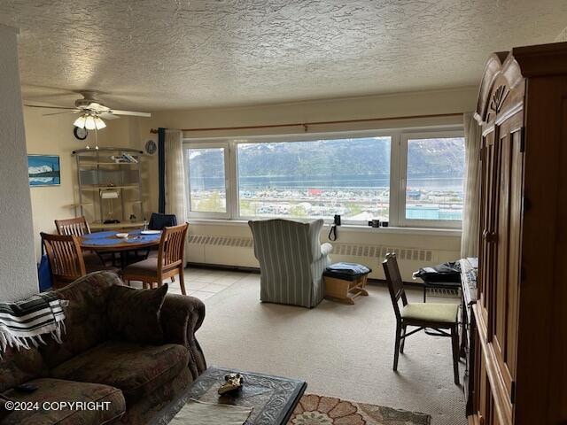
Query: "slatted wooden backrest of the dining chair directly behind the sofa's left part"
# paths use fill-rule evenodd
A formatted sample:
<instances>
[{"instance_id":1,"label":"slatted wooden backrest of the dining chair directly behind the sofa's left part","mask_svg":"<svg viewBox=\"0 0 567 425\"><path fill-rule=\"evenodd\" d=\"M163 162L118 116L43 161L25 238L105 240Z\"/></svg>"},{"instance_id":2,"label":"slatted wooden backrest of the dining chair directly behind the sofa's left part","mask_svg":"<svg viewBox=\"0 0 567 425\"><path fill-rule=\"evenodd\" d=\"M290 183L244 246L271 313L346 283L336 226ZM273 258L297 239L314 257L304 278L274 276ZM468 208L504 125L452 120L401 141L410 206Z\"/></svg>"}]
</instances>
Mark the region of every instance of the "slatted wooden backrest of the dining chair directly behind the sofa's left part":
<instances>
[{"instance_id":1,"label":"slatted wooden backrest of the dining chair directly behind the sofa's left part","mask_svg":"<svg viewBox=\"0 0 567 425\"><path fill-rule=\"evenodd\" d=\"M79 236L41 234L50 261L54 286L74 282L87 274Z\"/></svg>"}]
</instances>

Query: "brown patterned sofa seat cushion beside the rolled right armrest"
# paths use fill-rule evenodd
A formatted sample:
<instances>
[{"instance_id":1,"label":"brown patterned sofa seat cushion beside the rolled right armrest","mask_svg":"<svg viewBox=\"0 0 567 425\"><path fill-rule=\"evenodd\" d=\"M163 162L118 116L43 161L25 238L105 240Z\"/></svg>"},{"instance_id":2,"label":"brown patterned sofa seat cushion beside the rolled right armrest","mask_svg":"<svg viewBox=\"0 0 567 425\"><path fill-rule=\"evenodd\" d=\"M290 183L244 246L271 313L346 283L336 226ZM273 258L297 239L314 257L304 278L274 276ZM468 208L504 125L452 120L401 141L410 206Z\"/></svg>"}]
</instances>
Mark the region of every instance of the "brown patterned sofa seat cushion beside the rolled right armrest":
<instances>
[{"instance_id":1,"label":"brown patterned sofa seat cushion beside the rolled right armrest","mask_svg":"<svg viewBox=\"0 0 567 425\"><path fill-rule=\"evenodd\" d=\"M157 390L187 367L183 345L107 341L51 370L59 379L104 383L119 388L128 406Z\"/></svg>"}]
</instances>

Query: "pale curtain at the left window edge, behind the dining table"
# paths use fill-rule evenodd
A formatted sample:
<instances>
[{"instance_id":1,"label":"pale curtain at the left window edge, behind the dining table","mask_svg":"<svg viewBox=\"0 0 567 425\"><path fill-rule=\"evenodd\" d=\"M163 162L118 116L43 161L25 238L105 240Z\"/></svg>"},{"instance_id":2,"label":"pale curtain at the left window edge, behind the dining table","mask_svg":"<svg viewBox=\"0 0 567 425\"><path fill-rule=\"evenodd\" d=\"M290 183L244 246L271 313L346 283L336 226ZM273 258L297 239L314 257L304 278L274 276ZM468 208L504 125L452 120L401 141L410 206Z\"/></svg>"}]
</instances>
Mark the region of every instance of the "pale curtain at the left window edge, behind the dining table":
<instances>
[{"instance_id":1,"label":"pale curtain at the left window edge, behind the dining table","mask_svg":"<svg viewBox=\"0 0 567 425\"><path fill-rule=\"evenodd\" d=\"M166 130L165 138L165 200L166 214L175 214L177 224L187 220L185 204L185 166L183 164L183 132ZM185 262L189 251L185 241Z\"/></svg>"}]
</instances>

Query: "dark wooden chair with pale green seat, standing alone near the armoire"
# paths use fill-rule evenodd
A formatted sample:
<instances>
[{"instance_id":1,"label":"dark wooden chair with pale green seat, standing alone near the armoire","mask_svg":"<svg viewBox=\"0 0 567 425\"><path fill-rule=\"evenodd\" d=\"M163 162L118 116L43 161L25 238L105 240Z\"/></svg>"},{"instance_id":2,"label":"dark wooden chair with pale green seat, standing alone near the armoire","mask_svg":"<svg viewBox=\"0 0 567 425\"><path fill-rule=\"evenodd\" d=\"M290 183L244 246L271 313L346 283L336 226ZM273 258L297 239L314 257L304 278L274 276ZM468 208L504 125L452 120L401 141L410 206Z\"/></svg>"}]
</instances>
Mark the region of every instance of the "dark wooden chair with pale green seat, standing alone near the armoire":
<instances>
[{"instance_id":1,"label":"dark wooden chair with pale green seat, standing alone near the armoire","mask_svg":"<svg viewBox=\"0 0 567 425\"><path fill-rule=\"evenodd\" d=\"M453 354L454 383L459 385L459 322L458 304L408 303L404 284L401 280L400 268L395 254L389 253L382 262L393 311L396 315L396 340L393 353L393 370L398 370L398 357L404 352L404 343L410 335L425 328L433 328L439 336L450 336ZM400 309L401 298L401 309ZM408 332L408 326L416 329ZM444 332L448 329L450 333Z\"/></svg>"}]
</instances>

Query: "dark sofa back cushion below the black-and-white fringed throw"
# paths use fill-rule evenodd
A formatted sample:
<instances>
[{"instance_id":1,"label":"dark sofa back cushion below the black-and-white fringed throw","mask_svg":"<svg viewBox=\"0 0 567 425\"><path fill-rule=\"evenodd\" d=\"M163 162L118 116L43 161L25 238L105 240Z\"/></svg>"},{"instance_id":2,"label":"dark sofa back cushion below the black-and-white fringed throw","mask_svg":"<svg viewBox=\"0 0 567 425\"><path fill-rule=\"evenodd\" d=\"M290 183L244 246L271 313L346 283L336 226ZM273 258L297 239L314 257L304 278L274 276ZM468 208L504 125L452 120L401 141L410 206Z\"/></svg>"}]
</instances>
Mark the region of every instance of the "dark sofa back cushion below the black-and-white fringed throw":
<instances>
[{"instance_id":1,"label":"dark sofa back cushion below the black-and-white fringed throw","mask_svg":"<svg viewBox=\"0 0 567 425\"><path fill-rule=\"evenodd\" d=\"M0 392L47 375L47 367L35 348L16 350L8 347L0 355Z\"/></svg>"}]
</instances>

